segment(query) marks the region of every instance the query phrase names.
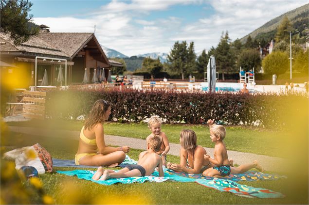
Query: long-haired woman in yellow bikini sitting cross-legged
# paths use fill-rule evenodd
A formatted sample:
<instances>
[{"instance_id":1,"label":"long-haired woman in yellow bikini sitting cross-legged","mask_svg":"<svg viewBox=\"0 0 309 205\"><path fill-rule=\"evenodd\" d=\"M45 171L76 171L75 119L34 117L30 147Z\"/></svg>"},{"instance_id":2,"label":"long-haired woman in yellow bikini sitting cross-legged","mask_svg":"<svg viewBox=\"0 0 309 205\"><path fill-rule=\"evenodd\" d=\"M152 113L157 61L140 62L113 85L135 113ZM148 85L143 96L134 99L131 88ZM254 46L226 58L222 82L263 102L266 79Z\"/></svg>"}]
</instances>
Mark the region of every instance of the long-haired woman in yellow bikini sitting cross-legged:
<instances>
[{"instance_id":1,"label":"long-haired woman in yellow bikini sitting cross-legged","mask_svg":"<svg viewBox=\"0 0 309 205\"><path fill-rule=\"evenodd\" d=\"M104 142L105 120L110 115L110 103L97 100L80 131L78 150L75 155L76 165L117 166L126 158L128 146L109 147Z\"/></svg>"}]
</instances>

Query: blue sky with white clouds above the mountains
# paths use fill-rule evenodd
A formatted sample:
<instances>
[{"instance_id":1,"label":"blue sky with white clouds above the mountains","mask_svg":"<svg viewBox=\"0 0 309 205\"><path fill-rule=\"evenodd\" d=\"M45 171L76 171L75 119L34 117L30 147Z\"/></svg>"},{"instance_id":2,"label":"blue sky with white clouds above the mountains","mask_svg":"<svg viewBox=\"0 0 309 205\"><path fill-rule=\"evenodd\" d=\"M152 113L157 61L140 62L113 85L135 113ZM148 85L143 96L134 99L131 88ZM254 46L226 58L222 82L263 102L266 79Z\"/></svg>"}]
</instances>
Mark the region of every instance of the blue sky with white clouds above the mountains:
<instances>
[{"instance_id":1,"label":"blue sky with white clouds above the mountains","mask_svg":"<svg viewBox=\"0 0 309 205\"><path fill-rule=\"evenodd\" d=\"M169 53L176 41L195 51L253 32L308 0L30 0L34 23L51 32L94 32L99 43L127 56ZM94 29L95 28L95 29Z\"/></svg>"}]
</instances>

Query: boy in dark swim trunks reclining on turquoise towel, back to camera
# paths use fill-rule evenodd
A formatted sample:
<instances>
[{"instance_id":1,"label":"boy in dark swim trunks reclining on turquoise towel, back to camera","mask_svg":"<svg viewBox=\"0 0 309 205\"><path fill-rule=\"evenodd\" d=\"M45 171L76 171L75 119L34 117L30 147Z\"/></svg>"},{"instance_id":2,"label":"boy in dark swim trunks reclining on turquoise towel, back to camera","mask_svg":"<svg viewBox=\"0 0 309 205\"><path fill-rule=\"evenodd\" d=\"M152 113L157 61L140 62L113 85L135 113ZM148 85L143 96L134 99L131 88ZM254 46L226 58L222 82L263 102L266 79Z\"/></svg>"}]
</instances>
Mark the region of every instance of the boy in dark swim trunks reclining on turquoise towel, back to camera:
<instances>
[{"instance_id":1,"label":"boy in dark swim trunks reclining on turquoise towel, back to camera","mask_svg":"<svg viewBox=\"0 0 309 205\"><path fill-rule=\"evenodd\" d=\"M127 178L132 176L149 176L154 172L155 168L159 168L159 176L164 176L162 168L162 158L156 154L161 148L162 138L159 135L148 137L147 151L140 154L137 164L129 164L122 170L115 172L114 170L104 170L99 167L93 175L93 180L107 180L109 178Z\"/></svg>"}]
</instances>

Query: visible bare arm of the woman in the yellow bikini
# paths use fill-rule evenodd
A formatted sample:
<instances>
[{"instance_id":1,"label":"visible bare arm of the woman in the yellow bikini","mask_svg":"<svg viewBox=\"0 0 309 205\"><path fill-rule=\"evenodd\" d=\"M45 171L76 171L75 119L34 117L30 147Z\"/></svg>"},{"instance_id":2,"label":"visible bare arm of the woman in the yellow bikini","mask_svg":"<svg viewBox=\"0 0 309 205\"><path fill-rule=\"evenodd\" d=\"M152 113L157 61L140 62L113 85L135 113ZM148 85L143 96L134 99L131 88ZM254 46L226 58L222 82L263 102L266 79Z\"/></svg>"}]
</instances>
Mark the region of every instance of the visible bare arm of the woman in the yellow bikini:
<instances>
[{"instance_id":1,"label":"visible bare arm of the woman in the yellow bikini","mask_svg":"<svg viewBox=\"0 0 309 205\"><path fill-rule=\"evenodd\" d=\"M109 147L105 144L104 141L104 128L103 125L98 124L93 128L95 134L95 141L98 147L98 153L102 155L107 155L112 152L122 151L121 147ZM123 150L125 151L125 150Z\"/></svg>"}]
</instances>

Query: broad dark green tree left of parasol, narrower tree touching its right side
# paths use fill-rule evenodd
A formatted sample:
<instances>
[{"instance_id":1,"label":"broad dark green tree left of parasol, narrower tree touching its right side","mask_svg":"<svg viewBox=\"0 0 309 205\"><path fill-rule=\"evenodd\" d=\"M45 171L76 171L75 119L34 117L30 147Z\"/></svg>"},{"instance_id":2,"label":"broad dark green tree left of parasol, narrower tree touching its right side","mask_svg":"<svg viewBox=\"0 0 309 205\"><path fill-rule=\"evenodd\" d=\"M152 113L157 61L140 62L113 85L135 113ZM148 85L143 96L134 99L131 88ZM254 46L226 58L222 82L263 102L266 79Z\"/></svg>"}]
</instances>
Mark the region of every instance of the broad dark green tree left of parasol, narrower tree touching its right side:
<instances>
[{"instance_id":1,"label":"broad dark green tree left of parasol, narrower tree touching its right side","mask_svg":"<svg viewBox=\"0 0 309 205\"><path fill-rule=\"evenodd\" d=\"M187 74L187 63L188 63L188 50L187 42L182 41L179 43L175 42L170 53L167 55L168 71L171 74L181 74L182 79L184 75Z\"/></svg>"}]
</instances>

